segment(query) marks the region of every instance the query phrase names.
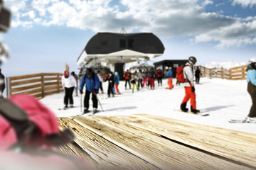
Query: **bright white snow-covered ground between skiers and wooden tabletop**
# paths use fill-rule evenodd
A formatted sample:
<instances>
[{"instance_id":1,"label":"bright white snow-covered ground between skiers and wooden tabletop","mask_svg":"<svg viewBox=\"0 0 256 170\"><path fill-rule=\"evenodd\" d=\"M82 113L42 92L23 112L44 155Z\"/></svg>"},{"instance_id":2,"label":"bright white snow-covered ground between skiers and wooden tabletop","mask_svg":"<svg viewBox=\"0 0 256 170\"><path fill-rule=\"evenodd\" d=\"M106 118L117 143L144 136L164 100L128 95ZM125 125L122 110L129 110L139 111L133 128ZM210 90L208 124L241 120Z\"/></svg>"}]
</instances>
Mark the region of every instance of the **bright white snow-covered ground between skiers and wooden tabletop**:
<instances>
[{"instance_id":1,"label":"bright white snow-covered ground between skiers and wooden tabletop","mask_svg":"<svg viewBox=\"0 0 256 170\"><path fill-rule=\"evenodd\" d=\"M146 113L220 128L256 133L256 124L228 122L230 119L243 119L250 111L252 101L247 93L247 82L245 80L201 79L201 83L196 84L196 102L197 108L201 112L210 114L205 117L174 111L174 109L180 107L183 100L185 94L183 86L174 86L174 89L166 90L164 88L167 86L167 79L163 80L163 86L158 86L157 81L155 83L156 89L154 90L144 88L137 91L135 89L134 93L132 93L132 90L124 90L124 81L120 81L119 90L122 94L110 98L107 98L106 94L107 82L103 83L105 94L99 94L98 98L104 111L101 111L99 105L98 110L100 112L95 115ZM174 85L175 83L176 79L174 79ZM54 94L46 96L41 101L58 117L80 114L80 95L74 96L75 108L65 111L58 110L58 108L63 108L63 96L64 93ZM188 108L190 108L189 103ZM92 110L91 100L90 110Z\"/></svg>"}]
</instances>

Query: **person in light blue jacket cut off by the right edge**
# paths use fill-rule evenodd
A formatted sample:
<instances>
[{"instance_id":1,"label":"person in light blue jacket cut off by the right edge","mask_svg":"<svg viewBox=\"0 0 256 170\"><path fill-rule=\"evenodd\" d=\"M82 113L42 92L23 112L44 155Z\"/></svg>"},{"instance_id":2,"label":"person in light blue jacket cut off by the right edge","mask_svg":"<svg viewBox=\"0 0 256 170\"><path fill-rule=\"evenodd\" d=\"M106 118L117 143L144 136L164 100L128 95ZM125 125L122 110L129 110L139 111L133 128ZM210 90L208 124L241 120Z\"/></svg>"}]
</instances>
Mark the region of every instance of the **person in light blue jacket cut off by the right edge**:
<instances>
[{"instance_id":1,"label":"person in light blue jacket cut off by the right edge","mask_svg":"<svg viewBox=\"0 0 256 170\"><path fill-rule=\"evenodd\" d=\"M245 118L246 122L256 123L256 58L251 58L247 66L247 91L252 98L250 113Z\"/></svg>"}]
</instances>

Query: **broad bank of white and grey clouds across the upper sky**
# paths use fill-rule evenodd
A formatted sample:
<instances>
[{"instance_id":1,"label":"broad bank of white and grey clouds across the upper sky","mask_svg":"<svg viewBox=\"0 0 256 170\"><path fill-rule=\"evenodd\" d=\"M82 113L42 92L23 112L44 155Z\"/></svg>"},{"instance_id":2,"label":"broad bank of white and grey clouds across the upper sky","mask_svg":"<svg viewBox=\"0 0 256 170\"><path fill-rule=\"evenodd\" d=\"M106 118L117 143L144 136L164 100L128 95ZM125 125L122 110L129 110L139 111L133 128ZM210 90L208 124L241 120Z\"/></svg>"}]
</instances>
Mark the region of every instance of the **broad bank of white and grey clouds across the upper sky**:
<instances>
[{"instance_id":1,"label":"broad bank of white and grey clouds across the upper sky","mask_svg":"<svg viewBox=\"0 0 256 170\"><path fill-rule=\"evenodd\" d=\"M16 1L16 0L15 0ZM164 37L188 36L192 42L218 42L225 48L255 43L255 16L234 18L220 13L207 13L210 0L23 0L11 6L12 26L33 23L119 32L125 28L152 32ZM115 2L115 4L114 4ZM232 3L232 2L231 2ZM233 4L253 6L256 0L234 0ZM31 12L33 11L33 12ZM22 16L29 16L31 20Z\"/></svg>"}]
</instances>

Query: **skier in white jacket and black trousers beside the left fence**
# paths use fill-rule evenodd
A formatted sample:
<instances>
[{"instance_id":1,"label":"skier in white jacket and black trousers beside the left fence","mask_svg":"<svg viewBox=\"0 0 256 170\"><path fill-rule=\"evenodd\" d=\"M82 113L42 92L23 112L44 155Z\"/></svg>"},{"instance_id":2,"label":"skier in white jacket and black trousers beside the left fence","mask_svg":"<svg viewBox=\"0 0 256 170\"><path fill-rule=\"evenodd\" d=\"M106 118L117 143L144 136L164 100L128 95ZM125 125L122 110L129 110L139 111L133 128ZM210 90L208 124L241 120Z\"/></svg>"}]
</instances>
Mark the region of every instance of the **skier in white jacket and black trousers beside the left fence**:
<instances>
[{"instance_id":1,"label":"skier in white jacket and black trousers beside the left fence","mask_svg":"<svg viewBox=\"0 0 256 170\"><path fill-rule=\"evenodd\" d=\"M68 108L68 103L70 104L70 108L73 108L73 91L76 86L76 81L73 76L70 76L68 70L65 70L64 75L61 78L61 84L65 90L64 109Z\"/></svg>"}]
</instances>

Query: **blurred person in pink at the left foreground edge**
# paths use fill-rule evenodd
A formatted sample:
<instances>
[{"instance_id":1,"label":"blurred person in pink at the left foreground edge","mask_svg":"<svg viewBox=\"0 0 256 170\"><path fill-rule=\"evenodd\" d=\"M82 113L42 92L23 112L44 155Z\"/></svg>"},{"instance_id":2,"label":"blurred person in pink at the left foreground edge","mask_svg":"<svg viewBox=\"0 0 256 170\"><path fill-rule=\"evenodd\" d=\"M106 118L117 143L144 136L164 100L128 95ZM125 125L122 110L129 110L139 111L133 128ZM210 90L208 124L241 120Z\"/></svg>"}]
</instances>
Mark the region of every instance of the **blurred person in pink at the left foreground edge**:
<instances>
[{"instance_id":1,"label":"blurred person in pink at the left foreground edge","mask_svg":"<svg viewBox=\"0 0 256 170\"><path fill-rule=\"evenodd\" d=\"M0 32L6 32L11 12L1 0L0 18ZM0 42L0 68L8 57ZM55 114L33 96L17 94L0 98L0 169L94 169L87 160L56 149L73 142L74 137L69 128L60 132Z\"/></svg>"}]
</instances>

